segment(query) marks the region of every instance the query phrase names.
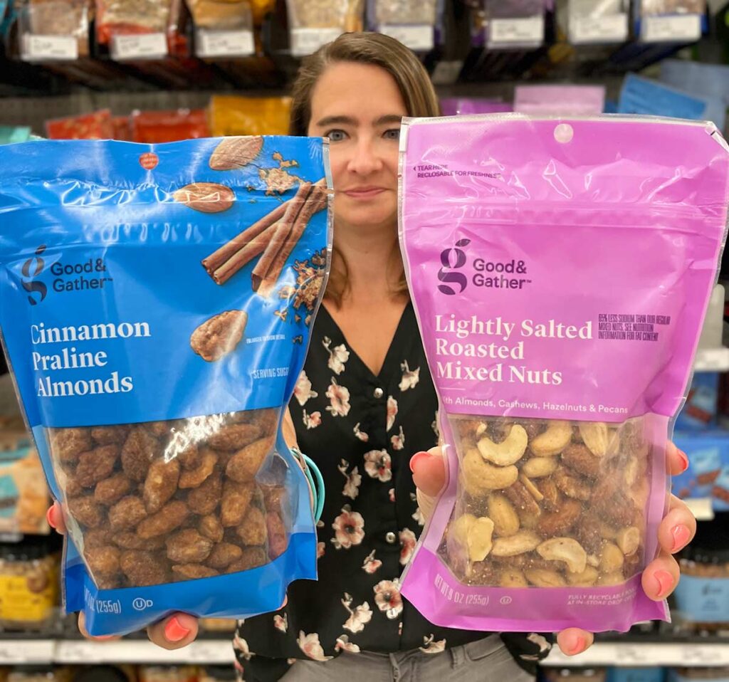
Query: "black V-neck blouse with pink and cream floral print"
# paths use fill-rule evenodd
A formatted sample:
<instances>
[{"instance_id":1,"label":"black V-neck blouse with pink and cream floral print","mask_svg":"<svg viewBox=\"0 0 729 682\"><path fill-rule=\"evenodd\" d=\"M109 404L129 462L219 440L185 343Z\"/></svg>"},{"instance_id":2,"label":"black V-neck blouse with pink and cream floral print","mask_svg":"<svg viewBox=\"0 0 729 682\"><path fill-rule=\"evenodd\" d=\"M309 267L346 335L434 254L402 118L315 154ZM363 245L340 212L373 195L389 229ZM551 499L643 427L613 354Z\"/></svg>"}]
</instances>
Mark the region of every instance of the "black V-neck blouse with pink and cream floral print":
<instances>
[{"instance_id":1,"label":"black V-neck blouse with pink and cream floral print","mask_svg":"<svg viewBox=\"0 0 729 682\"><path fill-rule=\"evenodd\" d=\"M319 581L297 581L276 614L241 622L246 682L273 682L296 659L341 651L437 653L487 633L435 627L400 595L399 576L424 525L410 457L437 444L437 398L408 303L378 376L351 350L324 306L290 404L298 443L327 490ZM502 635L527 670L550 648L542 635Z\"/></svg>"}]
</instances>

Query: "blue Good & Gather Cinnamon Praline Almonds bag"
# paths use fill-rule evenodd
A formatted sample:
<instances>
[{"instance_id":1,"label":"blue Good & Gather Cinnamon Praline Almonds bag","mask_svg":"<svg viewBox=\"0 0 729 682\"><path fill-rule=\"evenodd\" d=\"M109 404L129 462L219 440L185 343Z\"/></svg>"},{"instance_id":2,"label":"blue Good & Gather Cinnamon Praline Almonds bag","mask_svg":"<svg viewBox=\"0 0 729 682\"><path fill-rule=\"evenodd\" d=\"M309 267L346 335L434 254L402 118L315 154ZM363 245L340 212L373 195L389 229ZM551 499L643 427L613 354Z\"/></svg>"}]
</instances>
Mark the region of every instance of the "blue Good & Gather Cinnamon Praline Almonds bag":
<instances>
[{"instance_id":1,"label":"blue Good & Gather Cinnamon Praline Almonds bag","mask_svg":"<svg viewBox=\"0 0 729 682\"><path fill-rule=\"evenodd\" d=\"M331 254L327 141L0 148L0 327L91 635L316 579L281 435Z\"/></svg>"}]
</instances>

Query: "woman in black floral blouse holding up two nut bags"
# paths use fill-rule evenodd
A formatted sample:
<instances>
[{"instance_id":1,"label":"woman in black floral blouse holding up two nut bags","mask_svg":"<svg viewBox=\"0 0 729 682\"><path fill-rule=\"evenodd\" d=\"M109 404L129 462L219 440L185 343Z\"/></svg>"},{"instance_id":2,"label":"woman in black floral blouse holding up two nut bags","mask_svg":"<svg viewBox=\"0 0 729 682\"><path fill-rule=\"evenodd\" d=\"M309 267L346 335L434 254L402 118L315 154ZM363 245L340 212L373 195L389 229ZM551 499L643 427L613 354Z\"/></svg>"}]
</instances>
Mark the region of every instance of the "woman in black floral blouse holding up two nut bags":
<instances>
[{"instance_id":1,"label":"woman in black floral blouse holding up two nut bags","mask_svg":"<svg viewBox=\"0 0 729 682\"><path fill-rule=\"evenodd\" d=\"M247 682L519 681L547 654L541 635L434 627L399 594L399 574L445 474L397 243L398 136L403 116L438 113L418 60L378 34L346 34L322 47L295 83L291 133L330 138L336 197L332 275L290 405L289 439L319 465L327 503L319 581L292 584L284 608L238 627ZM408 462L405 452L417 454ZM674 474L687 466L675 449L670 459ZM694 531L674 499L660 525L663 553L643 576L650 597L673 591L671 552ZM186 646L196 633L185 614L149 628L165 648ZM558 643L577 654L592 635L573 628Z\"/></svg>"}]
</instances>

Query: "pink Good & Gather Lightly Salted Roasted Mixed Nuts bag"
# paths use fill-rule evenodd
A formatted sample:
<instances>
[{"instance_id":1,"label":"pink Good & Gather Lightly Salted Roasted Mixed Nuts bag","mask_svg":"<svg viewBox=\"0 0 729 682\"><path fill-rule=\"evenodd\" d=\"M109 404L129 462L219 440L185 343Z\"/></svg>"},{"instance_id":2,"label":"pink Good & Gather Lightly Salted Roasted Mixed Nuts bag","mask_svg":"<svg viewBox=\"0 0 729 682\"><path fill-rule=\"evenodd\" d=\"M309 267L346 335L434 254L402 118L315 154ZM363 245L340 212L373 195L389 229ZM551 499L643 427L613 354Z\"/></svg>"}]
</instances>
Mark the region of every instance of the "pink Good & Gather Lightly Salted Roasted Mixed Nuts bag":
<instances>
[{"instance_id":1,"label":"pink Good & Gather Lightly Salted Roasted Mixed Nuts bag","mask_svg":"<svg viewBox=\"0 0 729 682\"><path fill-rule=\"evenodd\" d=\"M405 119L400 243L448 485L405 571L429 621L628 630L725 241L712 124Z\"/></svg>"}]
</instances>

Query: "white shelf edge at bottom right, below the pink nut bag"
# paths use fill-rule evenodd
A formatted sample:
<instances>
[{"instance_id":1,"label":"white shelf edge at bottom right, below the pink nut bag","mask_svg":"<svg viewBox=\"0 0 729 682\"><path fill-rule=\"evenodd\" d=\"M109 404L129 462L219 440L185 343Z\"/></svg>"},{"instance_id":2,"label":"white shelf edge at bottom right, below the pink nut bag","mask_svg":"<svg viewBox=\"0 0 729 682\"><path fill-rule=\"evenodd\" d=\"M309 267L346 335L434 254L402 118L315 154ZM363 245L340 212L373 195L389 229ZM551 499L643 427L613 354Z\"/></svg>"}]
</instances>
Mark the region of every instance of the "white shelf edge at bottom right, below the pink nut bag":
<instances>
[{"instance_id":1,"label":"white shelf edge at bottom right, below the pink nut bag","mask_svg":"<svg viewBox=\"0 0 729 682\"><path fill-rule=\"evenodd\" d=\"M729 665L729 643L613 643L598 642L584 654L565 656L555 646L543 665L665 665L716 667Z\"/></svg>"}]
</instances>

